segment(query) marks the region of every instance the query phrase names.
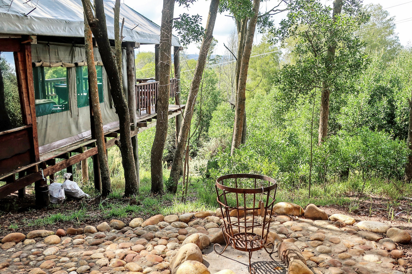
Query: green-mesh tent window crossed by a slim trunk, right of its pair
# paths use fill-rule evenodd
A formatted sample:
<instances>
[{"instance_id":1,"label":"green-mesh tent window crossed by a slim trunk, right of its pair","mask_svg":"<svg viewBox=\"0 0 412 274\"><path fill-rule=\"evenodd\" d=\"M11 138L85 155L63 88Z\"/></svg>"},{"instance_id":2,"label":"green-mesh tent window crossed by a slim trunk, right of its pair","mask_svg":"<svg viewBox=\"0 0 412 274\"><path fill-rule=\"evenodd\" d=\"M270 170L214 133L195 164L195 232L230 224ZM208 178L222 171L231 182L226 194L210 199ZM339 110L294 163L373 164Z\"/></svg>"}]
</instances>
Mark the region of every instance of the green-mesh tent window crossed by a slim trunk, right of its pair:
<instances>
[{"instance_id":1,"label":"green-mesh tent window crossed by a slim trunk, right of its pair","mask_svg":"<svg viewBox=\"0 0 412 274\"><path fill-rule=\"evenodd\" d=\"M104 102L103 97L103 66L96 66L97 88L99 102ZM87 66L76 67L77 85L77 107L86 107L89 103L89 78L87 76Z\"/></svg>"}]
</instances>

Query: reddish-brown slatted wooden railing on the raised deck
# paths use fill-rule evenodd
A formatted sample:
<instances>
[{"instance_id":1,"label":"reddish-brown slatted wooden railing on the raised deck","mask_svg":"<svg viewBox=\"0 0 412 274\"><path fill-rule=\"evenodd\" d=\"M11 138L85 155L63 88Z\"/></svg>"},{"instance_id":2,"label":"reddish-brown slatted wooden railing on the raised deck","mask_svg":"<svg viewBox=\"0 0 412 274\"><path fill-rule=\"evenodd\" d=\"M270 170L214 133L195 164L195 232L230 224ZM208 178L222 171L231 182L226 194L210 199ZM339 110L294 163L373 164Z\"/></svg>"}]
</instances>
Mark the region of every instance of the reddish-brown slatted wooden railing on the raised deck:
<instances>
[{"instance_id":1,"label":"reddish-brown slatted wooden railing on the raised deck","mask_svg":"<svg viewBox=\"0 0 412 274\"><path fill-rule=\"evenodd\" d=\"M139 79L143 80L143 79ZM176 96L178 79L172 78L170 79L170 98L174 98ZM142 110L146 110L147 114L152 113L152 108L155 108L156 111L156 101L157 101L157 94L159 91L159 81L154 82L141 82L136 84L136 98L137 98L137 109L141 114Z\"/></svg>"}]
</instances>

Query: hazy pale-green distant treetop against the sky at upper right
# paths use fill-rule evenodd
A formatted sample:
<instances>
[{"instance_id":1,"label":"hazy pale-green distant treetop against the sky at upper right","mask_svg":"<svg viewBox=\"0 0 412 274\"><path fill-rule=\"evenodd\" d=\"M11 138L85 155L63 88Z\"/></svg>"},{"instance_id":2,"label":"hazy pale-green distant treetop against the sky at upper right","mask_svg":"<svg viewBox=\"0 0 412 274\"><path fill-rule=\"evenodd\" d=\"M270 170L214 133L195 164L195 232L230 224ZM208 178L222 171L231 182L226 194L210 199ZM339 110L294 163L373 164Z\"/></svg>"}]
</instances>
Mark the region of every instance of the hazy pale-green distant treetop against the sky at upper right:
<instances>
[{"instance_id":1,"label":"hazy pale-green distant treetop against the sky at upper right","mask_svg":"<svg viewBox=\"0 0 412 274\"><path fill-rule=\"evenodd\" d=\"M365 52L382 54L385 63L393 60L402 48L395 33L395 16L389 17L389 12L379 4L368 4L363 11L370 15L358 32L360 39L366 42Z\"/></svg>"}]
</instances>

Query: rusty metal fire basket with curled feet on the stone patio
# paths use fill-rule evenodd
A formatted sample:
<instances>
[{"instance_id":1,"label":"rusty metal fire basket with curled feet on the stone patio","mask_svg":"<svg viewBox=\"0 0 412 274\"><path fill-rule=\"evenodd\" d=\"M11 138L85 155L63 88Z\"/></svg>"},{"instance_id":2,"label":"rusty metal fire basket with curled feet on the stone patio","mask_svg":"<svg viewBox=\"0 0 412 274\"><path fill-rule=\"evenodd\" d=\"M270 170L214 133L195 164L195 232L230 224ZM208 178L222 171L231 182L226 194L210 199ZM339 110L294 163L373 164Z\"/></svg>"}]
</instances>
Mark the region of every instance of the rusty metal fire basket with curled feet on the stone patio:
<instances>
[{"instance_id":1,"label":"rusty metal fire basket with curled feet on the stone patio","mask_svg":"<svg viewBox=\"0 0 412 274\"><path fill-rule=\"evenodd\" d=\"M256 174L228 174L216 180L226 246L222 248L220 244L215 244L213 249L217 254L222 254L231 245L237 250L247 251L250 274L253 269L250 265L253 251L265 248L267 253L273 253L274 244L266 241L276 200L276 188L274 179ZM216 250L217 246L221 251ZM271 246L271 250L267 250L266 246Z\"/></svg>"}]
</instances>

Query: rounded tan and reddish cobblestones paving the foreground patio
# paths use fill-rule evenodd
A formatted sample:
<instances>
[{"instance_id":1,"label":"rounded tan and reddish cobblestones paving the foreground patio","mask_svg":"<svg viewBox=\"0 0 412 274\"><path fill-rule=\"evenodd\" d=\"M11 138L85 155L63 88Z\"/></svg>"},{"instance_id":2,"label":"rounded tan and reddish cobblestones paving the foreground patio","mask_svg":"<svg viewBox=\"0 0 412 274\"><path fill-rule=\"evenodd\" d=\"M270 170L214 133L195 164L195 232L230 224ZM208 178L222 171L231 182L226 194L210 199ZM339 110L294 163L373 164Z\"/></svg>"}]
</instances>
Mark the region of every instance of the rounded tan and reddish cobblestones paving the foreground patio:
<instances>
[{"instance_id":1,"label":"rounded tan and reddish cobblestones paving the foreground patio","mask_svg":"<svg viewBox=\"0 0 412 274\"><path fill-rule=\"evenodd\" d=\"M303 209L281 202L273 213L268 241L276 245L275 255L290 274L412 273L403 250L411 237L399 228L343 214L328 216L313 204ZM158 214L128 224L113 219L66 230L12 232L1 238L0 272L210 274L202 250L225 243L221 215L218 209ZM235 273L228 265L221 268L217 273Z\"/></svg>"}]
</instances>

